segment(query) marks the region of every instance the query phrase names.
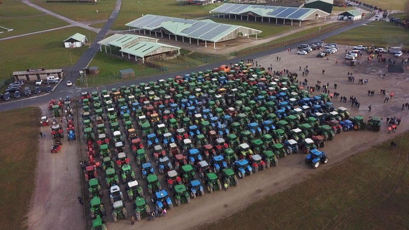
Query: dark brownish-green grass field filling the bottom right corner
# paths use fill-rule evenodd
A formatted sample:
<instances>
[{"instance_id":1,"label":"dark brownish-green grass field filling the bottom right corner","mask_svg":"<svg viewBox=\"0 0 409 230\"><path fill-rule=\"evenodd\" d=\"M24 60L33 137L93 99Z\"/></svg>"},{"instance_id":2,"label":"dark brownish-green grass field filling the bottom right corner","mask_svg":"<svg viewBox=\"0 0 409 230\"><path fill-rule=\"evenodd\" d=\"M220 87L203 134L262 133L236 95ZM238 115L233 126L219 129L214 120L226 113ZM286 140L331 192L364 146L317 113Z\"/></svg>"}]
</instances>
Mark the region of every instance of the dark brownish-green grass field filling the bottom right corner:
<instances>
[{"instance_id":1,"label":"dark brownish-green grass field filling the bottom right corner","mask_svg":"<svg viewBox=\"0 0 409 230\"><path fill-rule=\"evenodd\" d=\"M353 155L201 229L407 229L408 138L395 138L394 150L387 141Z\"/></svg>"}]
</instances>

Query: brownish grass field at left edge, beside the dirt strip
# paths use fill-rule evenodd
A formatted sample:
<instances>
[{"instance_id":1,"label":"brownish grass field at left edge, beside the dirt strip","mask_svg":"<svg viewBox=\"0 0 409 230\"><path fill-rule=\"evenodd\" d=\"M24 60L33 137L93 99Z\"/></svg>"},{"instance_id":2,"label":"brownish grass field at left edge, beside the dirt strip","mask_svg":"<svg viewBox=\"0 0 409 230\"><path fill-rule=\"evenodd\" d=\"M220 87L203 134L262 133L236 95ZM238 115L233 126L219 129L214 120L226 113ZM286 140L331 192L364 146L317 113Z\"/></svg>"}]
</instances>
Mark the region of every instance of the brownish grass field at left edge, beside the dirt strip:
<instances>
[{"instance_id":1,"label":"brownish grass field at left edge, beside the dirt strip","mask_svg":"<svg viewBox=\"0 0 409 230\"><path fill-rule=\"evenodd\" d=\"M37 165L39 108L0 112L0 226L27 229L27 214L34 191ZM22 131L24 130L24 131Z\"/></svg>"}]
</instances>

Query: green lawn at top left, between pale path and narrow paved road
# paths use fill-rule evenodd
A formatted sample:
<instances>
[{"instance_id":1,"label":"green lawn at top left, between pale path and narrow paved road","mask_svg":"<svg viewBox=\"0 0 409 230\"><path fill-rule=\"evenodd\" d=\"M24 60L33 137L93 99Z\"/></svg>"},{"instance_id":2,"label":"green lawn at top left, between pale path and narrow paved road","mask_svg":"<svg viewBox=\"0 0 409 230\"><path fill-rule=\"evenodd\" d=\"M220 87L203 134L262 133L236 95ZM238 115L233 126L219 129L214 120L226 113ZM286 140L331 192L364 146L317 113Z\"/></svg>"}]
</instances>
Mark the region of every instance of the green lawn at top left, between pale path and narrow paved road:
<instances>
[{"instance_id":1,"label":"green lawn at top left, between pale path and narrow paved road","mask_svg":"<svg viewBox=\"0 0 409 230\"><path fill-rule=\"evenodd\" d=\"M74 21L107 19L116 3L113 0L99 0L95 5L91 3L46 3L45 0L31 2Z\"/></svg>"}]
</instances>

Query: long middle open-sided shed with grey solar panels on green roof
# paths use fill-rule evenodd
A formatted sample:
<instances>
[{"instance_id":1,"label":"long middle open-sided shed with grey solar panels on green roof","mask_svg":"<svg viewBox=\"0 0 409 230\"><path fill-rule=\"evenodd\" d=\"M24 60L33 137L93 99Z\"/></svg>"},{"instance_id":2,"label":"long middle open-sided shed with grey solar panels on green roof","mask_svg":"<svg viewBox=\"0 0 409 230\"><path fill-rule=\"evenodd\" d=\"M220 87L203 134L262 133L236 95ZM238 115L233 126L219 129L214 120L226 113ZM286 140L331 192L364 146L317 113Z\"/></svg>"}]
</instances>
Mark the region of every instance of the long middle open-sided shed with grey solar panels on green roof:
<instances>
[{"instance_id":1,"label":"long middle open-sided shed with grey solar panels on green roof","mask_svg":"<svg viewBox=\"0 0 409 230\"><path fill-rule=\"evenodd\" d=\"M164 34L169 36L169 40L172 37L181 38L182 42L185 42L185 38L189 38L189 44L192 43L192 39L197 41L205 41L205 47L207 42L213 42L213 49L216 49L216 42L235 39L238 36L256 35L261 33L260 30L255 30L243 26L228 25L214 22L210 19L206 20L191 20L175 17L165 17L147 14L136 20L133 20L125 26L129 27L129 31L139 31L139 33L149 32L163 38Z\"/></svg>"}]
</instances>

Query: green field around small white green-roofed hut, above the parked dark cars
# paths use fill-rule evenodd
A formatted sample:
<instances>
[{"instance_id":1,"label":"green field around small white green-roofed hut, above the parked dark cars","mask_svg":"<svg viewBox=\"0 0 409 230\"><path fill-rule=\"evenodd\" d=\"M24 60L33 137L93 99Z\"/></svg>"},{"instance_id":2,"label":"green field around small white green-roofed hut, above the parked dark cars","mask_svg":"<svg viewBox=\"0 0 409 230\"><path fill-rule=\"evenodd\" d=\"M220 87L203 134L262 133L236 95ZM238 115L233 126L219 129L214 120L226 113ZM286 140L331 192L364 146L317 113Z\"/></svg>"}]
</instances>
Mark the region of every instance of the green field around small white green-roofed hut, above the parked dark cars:
<instances>
[{"instance_id":1,"label":"green field around small white green-roofed hut, above the parked dark cars","mask_svg":"<svg viewBox=\"0 0 409 230\"><path fill-rule=\"evenodd\" d=\"M62 42L75 33L82 33L95 38L95 33L88 30L72 27L51 32L35 34L25 37L0 41L2 55L0 55L0 80L9 78L13 71L26 70L27 68L44 67L58 68L71 65L70 54L73 63L88 49L64 48Z\"/></svg>"}]
</instances>

